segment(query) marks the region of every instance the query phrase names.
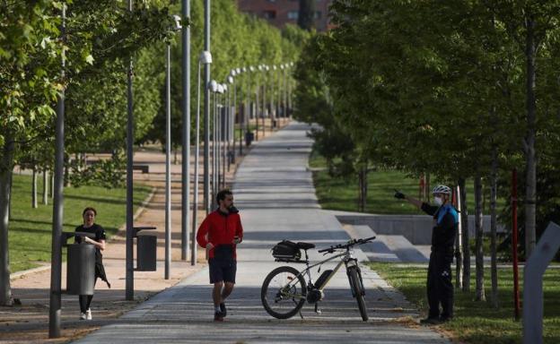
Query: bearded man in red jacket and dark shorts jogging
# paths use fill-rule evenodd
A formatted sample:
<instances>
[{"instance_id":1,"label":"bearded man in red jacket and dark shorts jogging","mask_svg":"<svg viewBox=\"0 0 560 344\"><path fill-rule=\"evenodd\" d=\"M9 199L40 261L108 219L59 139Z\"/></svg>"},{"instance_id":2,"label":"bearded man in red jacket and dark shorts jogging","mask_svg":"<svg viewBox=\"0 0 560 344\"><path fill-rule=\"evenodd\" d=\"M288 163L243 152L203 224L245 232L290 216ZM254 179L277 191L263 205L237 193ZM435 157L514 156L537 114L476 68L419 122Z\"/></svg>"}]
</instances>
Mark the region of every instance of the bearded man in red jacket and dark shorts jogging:
<instances>
[{"instance_id":1,"label":"bearded man in red jacket and dark shorts jogging","mask_svg":"<svg viewBox=\"0 0 560 344\"><path fill-rule=\"evenodd\" d=\"M222 190L216 196L219 208L206 216L197 231L197 243L208 251L210 283L214 284L214 321L227 315L225 299L232 294L237 261L235 246L243 239L239 211L233 206L233 193Z\"/></svg>"}]
</instances>

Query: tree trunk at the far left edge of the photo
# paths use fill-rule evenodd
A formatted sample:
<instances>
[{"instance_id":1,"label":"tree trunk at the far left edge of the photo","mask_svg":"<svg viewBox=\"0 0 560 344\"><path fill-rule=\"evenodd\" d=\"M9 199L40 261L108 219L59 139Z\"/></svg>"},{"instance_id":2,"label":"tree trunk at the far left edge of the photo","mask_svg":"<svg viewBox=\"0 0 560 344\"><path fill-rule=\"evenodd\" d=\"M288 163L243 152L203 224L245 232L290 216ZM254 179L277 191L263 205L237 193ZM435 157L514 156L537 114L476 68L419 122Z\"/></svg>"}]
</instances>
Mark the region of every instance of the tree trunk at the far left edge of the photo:
<instances>
[{"instance_id":1,"label":"tree trunk at the far left edge of the photo","mask_svg":"<svg viewBox=\"0 0 560 344\"><path fill-rule=\"evenodd\" d=\"M13 170L14 144L5 135L4 151L0 165L0 305L13 305L10 288L10 255L8 247L8 224Z\"/></svg>"}]
</instances>

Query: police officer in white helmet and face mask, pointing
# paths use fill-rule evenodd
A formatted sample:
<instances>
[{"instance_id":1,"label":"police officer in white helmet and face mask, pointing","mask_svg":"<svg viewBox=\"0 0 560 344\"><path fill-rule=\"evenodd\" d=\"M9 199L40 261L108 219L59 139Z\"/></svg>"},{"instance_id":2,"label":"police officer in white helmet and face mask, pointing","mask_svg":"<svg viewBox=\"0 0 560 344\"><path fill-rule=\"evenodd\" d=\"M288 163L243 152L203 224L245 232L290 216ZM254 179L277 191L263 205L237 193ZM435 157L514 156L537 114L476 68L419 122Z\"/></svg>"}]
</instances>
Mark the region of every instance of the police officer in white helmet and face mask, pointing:
<instances>
[{"instance_id":1,"label":"police officer in white helmet and face mask, pointing","mask_svg":"<svg viewBox=\"0 0 560 344\"><path fill-rule=\"evenodd\" d=\"M421 202L395 190L395 197L407 200L419 209L433 216L432 253L428 265L426 283L428 317L421 323L445 323L453 317L453 284L451 282L451 262L453 262L453 245L459 228L457 210L451 205L451 189L446 185L433 188L435 205ZM442 313L440 314L440 304Z\"/></svg>"}]
</instances>

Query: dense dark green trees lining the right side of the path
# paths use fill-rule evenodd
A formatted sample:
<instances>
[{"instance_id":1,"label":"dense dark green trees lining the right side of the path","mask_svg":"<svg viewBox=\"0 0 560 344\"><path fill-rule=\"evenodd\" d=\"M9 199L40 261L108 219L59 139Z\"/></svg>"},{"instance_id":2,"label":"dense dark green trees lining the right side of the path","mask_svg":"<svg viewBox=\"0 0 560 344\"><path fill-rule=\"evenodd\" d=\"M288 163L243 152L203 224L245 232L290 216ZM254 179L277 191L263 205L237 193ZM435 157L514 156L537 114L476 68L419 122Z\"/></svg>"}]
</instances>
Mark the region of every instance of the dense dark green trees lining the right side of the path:
<instances>
[{"instance_id":1,"label":"dense dark green trees lining the right side of the path","mask_svg":"<svg viewBox=\"0 0 560 344\"><path fill-rule=\"evenodd\" d=\"M560 2L335 0L331 15L337 28L311 39L296 68L296 116L322 125L316 147L336 171L388 166L459 185L463 228L474 179L477 299L487 185L496 304L496 198L509 198L512 168L524 171L526 256L543 220L560 215L560 186L550 184L560 163ZM468 239L463 230L465 290Z\"/></svg>"}]
</instances>

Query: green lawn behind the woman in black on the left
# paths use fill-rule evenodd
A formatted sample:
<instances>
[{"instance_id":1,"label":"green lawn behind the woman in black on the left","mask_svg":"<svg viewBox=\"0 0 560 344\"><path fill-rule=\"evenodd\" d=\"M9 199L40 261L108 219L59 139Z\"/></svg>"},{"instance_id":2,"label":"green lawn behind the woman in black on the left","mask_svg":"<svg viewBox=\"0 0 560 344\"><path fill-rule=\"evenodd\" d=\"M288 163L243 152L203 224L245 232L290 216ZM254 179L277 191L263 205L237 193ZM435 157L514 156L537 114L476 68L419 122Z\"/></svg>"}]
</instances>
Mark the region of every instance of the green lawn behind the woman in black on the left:
<instances>
[{"instance_id":1,"label":"green lawn behind the woman in black on the left","mask_svg":"<svg viewBox=\"0 0 560 344\"><path fill-rule=\"evenodd\" d=\"M42 178L39 178L42 180ZM52 200L42 202L42 183L38 182L39 208L31 208L31 176L13 176L12 218L8 240L10 249L10 271L22 271L38 266L37 262L50 262L52 236ZM150 193L151 188L136 185L134 204L136 208ZM126 222L126 189L106 189L99 186L65 188L64 228L74 231L82 224L85 207L97 210L96 222L107 230L108 235L117 232ZM63 254L66 259L66 254Z\"/></svg>"}]
</instances>

